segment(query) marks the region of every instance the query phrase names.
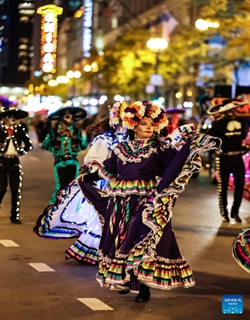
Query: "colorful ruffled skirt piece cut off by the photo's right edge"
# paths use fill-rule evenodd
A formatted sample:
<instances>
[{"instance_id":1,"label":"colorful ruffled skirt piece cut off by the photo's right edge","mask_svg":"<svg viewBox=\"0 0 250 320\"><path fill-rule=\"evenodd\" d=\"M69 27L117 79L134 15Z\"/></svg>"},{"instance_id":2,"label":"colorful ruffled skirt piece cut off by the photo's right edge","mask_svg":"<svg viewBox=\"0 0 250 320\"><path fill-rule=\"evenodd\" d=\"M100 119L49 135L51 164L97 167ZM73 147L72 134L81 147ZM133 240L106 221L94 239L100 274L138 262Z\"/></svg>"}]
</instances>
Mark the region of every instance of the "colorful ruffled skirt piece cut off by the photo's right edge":
<instances>
[{"instance_id":1,"label":"colorful ruffled skirt piece cut off by the photo's right edge","mask_svg":"<svg viewBox=\"0 0 250 320\"><path fill-rule=\"evenodd\" d=\"M239 266L250 273L250 227L240 230L234 238L232 255Z\"/></svg>"}]
</instances>

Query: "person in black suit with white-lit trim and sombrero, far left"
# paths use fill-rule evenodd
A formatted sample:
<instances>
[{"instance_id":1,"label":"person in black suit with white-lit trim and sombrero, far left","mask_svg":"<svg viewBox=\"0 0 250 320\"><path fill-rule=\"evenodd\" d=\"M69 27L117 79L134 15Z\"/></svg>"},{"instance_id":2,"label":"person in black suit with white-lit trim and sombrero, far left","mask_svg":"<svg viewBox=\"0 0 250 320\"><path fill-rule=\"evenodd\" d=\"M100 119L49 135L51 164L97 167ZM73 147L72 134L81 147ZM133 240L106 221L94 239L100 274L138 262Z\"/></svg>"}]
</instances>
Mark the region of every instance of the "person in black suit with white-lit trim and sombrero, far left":
<instances>
[{"instance_id":1,"label":"person in black suit with white-lit trim and sombrero, far left","mask_svg":"<svg viewBox=\"0 0 250 320\"><path fill-rule=\"evenodd\" d=\"M16 120L26 118L28 112L17 109L0 108L0 204L7 191L8 181L11 189L12 223L21 224L19 206L21 198L22 166L19 157L32 149L32 142L22 124Z\"/></svg>"}]
</instances>

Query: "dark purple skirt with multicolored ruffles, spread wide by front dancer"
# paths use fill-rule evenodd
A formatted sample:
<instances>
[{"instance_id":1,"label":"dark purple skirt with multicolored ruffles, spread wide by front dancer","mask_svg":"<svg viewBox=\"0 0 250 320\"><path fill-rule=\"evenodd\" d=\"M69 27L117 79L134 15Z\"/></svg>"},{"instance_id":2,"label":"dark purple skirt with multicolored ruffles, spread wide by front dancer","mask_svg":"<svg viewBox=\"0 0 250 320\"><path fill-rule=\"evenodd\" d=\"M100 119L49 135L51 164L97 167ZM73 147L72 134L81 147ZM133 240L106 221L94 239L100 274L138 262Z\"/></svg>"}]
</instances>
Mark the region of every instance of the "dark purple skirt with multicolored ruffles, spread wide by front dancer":
<instances>
[{"instance_id":1,"label":"dark purple skirt with multicolored ruffles, spread wide by front dancer","mask_svg":"<svg viewBox=\"0 0 250 320\"><path fill-rule=\"evenodd\" d=\"M97 281L114 290L137 291L140 282L170 290L195 284L171 226L173 208L194 172L202 168L199 152L219 149L219 141L204 135L186 143L149 196L112 195L108 199L79 180L83 193L105 225L99 248Z\"/></svg>"}]
</instances>

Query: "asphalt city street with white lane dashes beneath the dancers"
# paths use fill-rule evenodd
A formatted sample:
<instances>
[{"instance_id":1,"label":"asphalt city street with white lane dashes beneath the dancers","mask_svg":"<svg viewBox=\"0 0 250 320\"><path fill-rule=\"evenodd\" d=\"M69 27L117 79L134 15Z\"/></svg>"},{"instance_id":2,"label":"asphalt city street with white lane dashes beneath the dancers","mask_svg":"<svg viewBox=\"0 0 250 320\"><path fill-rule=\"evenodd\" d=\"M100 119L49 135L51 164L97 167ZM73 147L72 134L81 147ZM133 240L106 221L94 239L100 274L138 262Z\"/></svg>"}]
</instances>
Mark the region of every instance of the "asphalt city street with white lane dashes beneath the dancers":
<instances>
[{"instance_id":1,"label":"asphalt city street with white lane dashes beneath the dancers","mask_svg":"<svg viewBox=\"0 0 250 320\"><path fill-rule=\"evenodd\" d=\"M64 251L75 239L42 239L33 233L53 192L54 177L52 154L41 150L31 135L34 149L21 158L23 224L10 223L9 190L0 209L0 320L250 319L250 274L238 266L230 250L238 231L250 225L249 202L243 199L241 224L222 223L216 186L209 183L208 172L191 179L176 203L172 221L196 285L171 291L151 289L149 302L136 303L136 294L119 295L101 288L95 280L97 266L64 259ZM84 152L79 155L81 163L83 157ZM229 195L231 205L232 191ZM243 314L222 313L224 294L243 296Z\"/></svg>"}]
</instances>

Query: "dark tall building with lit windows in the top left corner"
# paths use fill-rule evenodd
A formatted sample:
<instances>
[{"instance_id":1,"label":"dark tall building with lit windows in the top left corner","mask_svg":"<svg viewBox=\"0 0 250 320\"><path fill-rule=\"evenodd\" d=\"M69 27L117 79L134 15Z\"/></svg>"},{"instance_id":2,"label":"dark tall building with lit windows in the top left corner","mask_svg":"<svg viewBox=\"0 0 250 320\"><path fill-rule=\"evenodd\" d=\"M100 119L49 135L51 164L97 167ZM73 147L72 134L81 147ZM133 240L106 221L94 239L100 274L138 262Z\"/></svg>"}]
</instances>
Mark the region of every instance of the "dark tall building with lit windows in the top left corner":
<instances>
[{"instance_id":1,"label":"dark tall building with lit windows in the top left corner","mask_svg":"<svg viewBox=\"0 0 250 320\"><path fill-rule=\"evenodd\" d=\"M23 86L30 78L34 0L0 0L0 85Z\"/></svg>"}]
</instances>

